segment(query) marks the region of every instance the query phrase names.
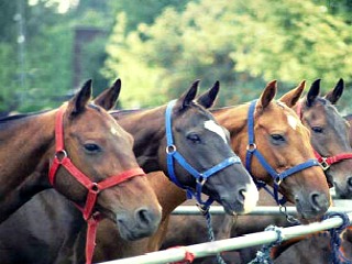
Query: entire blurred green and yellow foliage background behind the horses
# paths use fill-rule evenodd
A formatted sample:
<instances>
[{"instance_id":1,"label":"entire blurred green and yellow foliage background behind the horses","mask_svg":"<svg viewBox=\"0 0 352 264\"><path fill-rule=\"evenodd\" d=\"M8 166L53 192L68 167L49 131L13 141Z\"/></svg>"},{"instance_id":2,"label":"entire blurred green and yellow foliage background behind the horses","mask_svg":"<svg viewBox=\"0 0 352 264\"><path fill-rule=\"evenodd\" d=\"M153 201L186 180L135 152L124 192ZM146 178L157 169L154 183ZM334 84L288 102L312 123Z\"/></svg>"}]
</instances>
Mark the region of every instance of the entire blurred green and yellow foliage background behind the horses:
<instances>
[{"instance_id":1,"label":"entire blurred green and yellow foliage background behind the horses","mask_svg":"<svg viewBox=\"0 0 352 264\"><path fill-rule=\"evenodd\" d=\"M20 64L19 7L25 42ZM29 2L31 4L29 4ZM346 84L340 109L352 112L350 0L6 0L0 2L0 112L57 107L72 96L74 31L102 34L81 51L84 82L97 95L122 79L122 106L179 97L195 79L221 82L218 106L257 98L278 80L282 95L321 78L322 92ZM24 81L21 81L21 76ZM23 79L22 79L23 80Z\"/></svg>"}]
</instances>

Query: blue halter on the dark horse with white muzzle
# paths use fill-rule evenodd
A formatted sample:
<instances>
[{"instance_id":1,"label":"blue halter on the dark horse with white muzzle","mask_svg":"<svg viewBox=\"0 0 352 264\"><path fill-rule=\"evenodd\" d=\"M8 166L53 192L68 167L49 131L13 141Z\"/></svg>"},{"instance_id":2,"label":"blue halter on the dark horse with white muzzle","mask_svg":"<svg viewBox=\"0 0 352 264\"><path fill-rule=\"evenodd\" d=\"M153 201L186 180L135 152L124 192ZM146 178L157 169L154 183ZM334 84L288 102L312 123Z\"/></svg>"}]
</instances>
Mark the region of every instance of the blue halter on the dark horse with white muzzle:
<instances>
[{"instance_id":1,"label":"blue halter on the dark horse with white muzzle","mask_svg":"<svg viewBox=\"0 0 352 264\"><path fill-rule=\"evenodd\" d=\"M166 146L166 153L167 153L167 170L170 177L170 180L176 184L178 187L186 189L187 191L187 198L195 197L199 204L199 206L202 206L204 208L207 208L211 205L213 199L211 197L208 198L208 200L202 201L201 200L201 189L202 186L206 184L207 179L218 173L219 170L232 165L232 164L240 164L241 160L240 157L233 155L231 157L226 158L223 162L219 163L218 165L207 169L204 173L199 173L197 169L195 169L183 157L183 155L177 151L176 145L174 144L173 141L173 131L172 131L172 110L173 107L175 106L176 100L170 101L167 105L166 112L165 112L165 127L166 127L166 141L167 141L167 146ZM174 160L176 160L179 165L182 165L188 173L190 173L195 178L196 178L196 190L193 190L189 187L183 186L174 170Z\"/></svg>"}]
</instances>

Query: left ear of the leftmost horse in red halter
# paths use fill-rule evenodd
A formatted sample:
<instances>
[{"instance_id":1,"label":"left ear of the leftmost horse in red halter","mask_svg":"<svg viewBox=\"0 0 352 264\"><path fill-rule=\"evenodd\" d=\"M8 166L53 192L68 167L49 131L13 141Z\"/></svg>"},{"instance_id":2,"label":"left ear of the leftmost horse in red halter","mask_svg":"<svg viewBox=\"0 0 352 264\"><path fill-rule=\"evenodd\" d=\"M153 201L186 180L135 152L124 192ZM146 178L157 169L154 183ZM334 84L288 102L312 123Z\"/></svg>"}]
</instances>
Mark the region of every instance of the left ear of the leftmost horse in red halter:
<instances>
[{"instance_id":1,"label":"left ear of the leftmost horse in red halter","mask_svg":"<svg viewBox=\"0 0 352 264\"><path fill-rule=\"evenodd\" d=\"M77 116L85 110L91 97L91 79L87 80L80 90L69 100L67 111L72 116Z\"/></svg>"}]
</instances>

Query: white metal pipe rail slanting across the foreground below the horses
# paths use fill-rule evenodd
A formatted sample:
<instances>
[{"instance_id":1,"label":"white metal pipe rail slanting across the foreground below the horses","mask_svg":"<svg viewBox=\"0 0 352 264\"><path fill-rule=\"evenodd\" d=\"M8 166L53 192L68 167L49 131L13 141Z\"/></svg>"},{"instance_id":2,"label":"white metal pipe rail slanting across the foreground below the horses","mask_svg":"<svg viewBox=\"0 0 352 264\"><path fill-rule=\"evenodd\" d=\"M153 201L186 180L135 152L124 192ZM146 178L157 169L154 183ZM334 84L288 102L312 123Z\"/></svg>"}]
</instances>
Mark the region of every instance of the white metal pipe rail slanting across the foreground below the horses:
<instances>
[{"instance_id":1,"label":"white metal pipe rail slanting across the foreground below the horses","mask_svg":"<svg viewBox=\"0 0 352 264\"><path fill-rule=\"evenodd\" d=\"M350 221L352 220L352 212L348 213ZM322 231L331 228L338 228L343 223L340 217L333 217L321 222L315 222L307 226L296 226L289 228L282 228L283 241L289 240L299 235ZM105 262L103 264L158 264L183 261L185 258L186 250L191 252L195 257L204 257L216 255L219 252L232 251L254 245L261 245L277 241L276 231L264 231L257 233L245 234L243 237L219 240L215 242L194 244L184 248L169 249L153 253L147 253L141 256L128 257L118 261Z\"/></svg>"}]
</instances>

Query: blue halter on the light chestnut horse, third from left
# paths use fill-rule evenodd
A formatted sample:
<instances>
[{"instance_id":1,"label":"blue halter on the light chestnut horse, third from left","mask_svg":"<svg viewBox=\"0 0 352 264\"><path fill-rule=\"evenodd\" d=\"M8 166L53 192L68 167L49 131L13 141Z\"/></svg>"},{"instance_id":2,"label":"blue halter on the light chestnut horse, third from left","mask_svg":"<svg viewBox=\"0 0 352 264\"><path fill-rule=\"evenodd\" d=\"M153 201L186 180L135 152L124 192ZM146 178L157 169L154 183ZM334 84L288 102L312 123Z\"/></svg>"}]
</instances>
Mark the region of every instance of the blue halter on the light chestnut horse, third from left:
<instances>
[{"instance_id":1,"label":"blue halter on the light chestnut horse, third from left","mask_svg":"<svg viewBox=\"0 0 352 264\"><path fill-rule=\"evenodd\" d=\"M305 163L298 164L294 167L290 167L286 169L285 172L277 173L264 158L264 156L258 152L256 148L256 144L254 142L254 110L255 110L255 105L257 100L253 100L250 105L249 109L249 145L246 147L246 155L245 155L245 168L249 170L251 174L251 161L253 155L256 156L256 158L260 161L262 166L268 172L268 174L273 177L274 179L274 194L266 187L266 184L262 180L255 179L255 184L257 188L264 188L267 193L270 193L277 205L284 205L286 202L285 197L282 199L278 198L278 186L279 184L288 176L298 173L302 169L312 167L312 166L320 166L319 162L316 158L310 158Z\"/></svg>"}]
</instances>

